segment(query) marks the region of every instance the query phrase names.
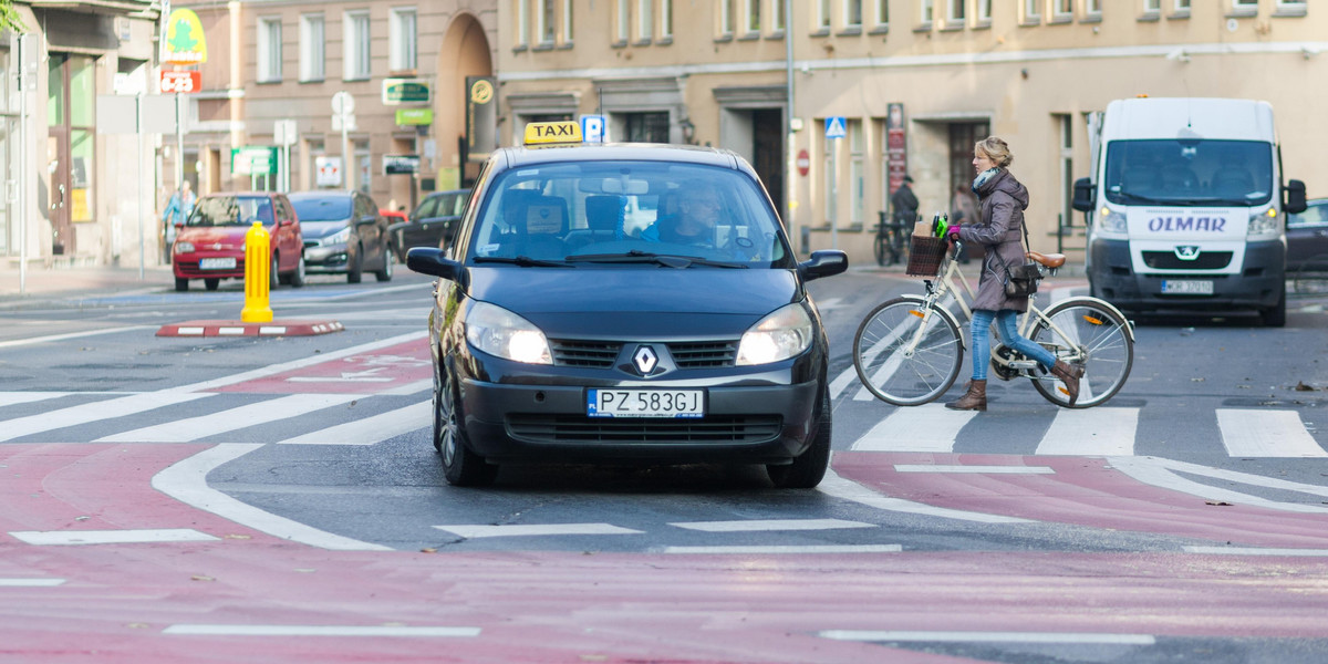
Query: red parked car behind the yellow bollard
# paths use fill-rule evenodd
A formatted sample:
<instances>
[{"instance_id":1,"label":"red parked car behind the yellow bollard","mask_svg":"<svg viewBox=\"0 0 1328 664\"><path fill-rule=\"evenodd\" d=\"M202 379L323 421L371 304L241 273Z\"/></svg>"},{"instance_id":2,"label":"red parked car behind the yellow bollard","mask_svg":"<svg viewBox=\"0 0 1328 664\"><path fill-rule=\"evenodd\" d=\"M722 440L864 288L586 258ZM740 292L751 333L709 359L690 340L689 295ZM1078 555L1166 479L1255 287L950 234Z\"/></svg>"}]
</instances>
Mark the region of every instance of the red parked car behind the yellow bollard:
<instances>
[{"instance_id":1,"label":"red parked car behind the yellow bollard","mask_svg":"<svg viewBox=\"0 0 1328 664\"><path fill-rule=\"evenodd\" d=\"M222 279L244 279L244 234L260 222L271 235L271 287L304 286L304 238L286 194L267 191L208 194L177 228L171 246L175 290L202 279L215 291Z\"/></svg>"}]
</instances>

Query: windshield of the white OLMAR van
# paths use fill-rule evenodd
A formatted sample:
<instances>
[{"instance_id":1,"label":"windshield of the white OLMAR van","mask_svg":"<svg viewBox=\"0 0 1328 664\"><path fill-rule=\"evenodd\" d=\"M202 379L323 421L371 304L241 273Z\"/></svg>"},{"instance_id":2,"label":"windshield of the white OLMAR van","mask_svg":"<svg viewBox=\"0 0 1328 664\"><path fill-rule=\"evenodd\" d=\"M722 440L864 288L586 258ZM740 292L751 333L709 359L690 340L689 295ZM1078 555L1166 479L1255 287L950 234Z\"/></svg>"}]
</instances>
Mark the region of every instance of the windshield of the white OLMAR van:
<instances>
[{"instance_id":1,"label":"windshield of the white OLMAR van","mask_svg":"<svg viewBox=\"0 0 1328 664\"><path fill-rule=\"evenodd\" d=\"M1272 199L1272 146L1259 141L1112 141L1106 199L1117 205L1252 207Z\"/></svg>"}]
</instances>

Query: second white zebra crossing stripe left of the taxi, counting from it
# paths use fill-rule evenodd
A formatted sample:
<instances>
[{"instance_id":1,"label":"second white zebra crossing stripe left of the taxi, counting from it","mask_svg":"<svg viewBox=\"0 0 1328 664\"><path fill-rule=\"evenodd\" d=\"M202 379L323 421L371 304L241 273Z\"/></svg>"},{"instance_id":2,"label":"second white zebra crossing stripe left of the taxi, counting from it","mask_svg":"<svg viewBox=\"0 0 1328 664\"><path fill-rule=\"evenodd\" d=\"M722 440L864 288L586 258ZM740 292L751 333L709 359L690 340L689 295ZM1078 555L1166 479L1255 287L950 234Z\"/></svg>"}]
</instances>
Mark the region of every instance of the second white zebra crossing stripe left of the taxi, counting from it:
<instances>
[{"instance_id":1,"label":"second white zebra crossing stripe left of the taxi, counting from it","mask_svg":"<svg viewBox=\"0 0 1328 664\"><path fill-rule=\"evenodd\" d=\"M219 413L173 420L155 426L117 433L93 442L189 442L236 429L290 420L356 398L360 398L360 394L291 394Z\"/></svg>"}]
</instances>

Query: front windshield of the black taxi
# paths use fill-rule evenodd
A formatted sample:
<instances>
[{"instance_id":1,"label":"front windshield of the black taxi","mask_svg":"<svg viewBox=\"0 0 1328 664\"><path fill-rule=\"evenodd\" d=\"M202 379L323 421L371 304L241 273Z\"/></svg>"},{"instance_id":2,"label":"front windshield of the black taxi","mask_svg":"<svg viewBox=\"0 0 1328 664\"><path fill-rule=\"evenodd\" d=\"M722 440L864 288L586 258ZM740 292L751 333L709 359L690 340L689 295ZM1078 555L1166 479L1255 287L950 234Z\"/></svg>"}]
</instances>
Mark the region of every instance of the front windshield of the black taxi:
<instances>
[{"instance_id":1,"label":"front windshield of the black taxi","mask_svg":"<svg viewBox=\"0 0 1328 664\"><path fill-rule=\"evenodd\" d=\"M466 250L471 263L790 264L769 198L754 179L730 169L628 161L550 163L498 175L485 199Z\"/></svg>"}]
</instances>

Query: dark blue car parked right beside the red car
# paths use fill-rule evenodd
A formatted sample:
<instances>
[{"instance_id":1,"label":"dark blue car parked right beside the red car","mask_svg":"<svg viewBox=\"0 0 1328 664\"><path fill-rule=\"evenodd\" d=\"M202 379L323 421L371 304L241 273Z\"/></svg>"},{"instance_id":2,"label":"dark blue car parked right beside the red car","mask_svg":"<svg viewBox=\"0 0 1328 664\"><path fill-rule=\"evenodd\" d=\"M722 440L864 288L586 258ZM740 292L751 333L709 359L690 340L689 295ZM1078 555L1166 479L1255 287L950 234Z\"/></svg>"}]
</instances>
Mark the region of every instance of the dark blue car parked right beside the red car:
<instances>
[{"instance_id":1,"label":"dark blue car parked right beside the red car","mask_svg":"<svg viewBox=\"0 0 1328 664\"><path fill-rule=\"evenodd\" d=\"M359 191L300 191L291 205L304 227L304 264L313 272L344 274L357 284L365 271L392 279L388 222L378 205Z\"/></svg>"}]
</instances>

